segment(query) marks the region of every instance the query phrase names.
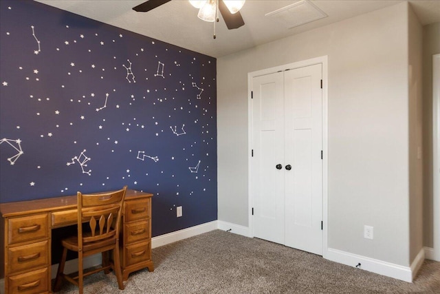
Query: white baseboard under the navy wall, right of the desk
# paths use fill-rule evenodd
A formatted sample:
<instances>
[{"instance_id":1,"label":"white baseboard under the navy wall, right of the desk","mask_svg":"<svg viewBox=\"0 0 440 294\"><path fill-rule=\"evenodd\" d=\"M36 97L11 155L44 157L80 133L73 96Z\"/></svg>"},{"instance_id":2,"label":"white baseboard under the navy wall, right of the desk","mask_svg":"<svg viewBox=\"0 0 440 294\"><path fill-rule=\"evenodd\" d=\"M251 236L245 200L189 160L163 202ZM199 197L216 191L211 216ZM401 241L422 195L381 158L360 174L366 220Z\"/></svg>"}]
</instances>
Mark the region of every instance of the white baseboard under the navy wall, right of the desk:
<instances>
[{"instance_id":1,"label":"white baseboard under the navy wall, right of the desk","mask_svg":"<svg viewBox=\"0 0 440 294\"><path fill-rule=\"evenodd\" d=\"M190 227L188 229L159 235L157 237L151 238L151 248L164 246L166 244L177 242L179 240L184 240L195 235L200 235L201 233L208 233L209 231L213 231L215 229L217 229L217 220L206 222L205 224L199 224L198 226Z\"/></svg>"}]
</instances>

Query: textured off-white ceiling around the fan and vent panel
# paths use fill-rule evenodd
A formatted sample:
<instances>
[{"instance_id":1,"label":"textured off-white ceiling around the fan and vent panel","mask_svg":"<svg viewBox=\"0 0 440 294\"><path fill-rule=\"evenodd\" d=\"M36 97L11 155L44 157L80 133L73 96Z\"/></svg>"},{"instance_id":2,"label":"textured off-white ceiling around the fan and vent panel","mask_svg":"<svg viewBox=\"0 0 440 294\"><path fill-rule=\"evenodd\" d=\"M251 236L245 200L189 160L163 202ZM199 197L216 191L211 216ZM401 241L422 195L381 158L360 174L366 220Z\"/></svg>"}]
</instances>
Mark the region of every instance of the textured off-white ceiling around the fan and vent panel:
<instances>
[{"instance_id":1,"label":"textured off-white ceiling around the fan and vent panel","mask_svg":"<svg viewBox=\"0 0 440 294\"><path fill-rule=\"evenodd\" d=\"M173 0L149 12L131 8L142 0L38 0L56 8L108 23L125 30L172 43L182 48L219 57L239 52L286 36L312 30L329 23L392 6L402 1L385 0L316 0L311 1L328 17L287 29L265 14L298 0L247 0L241 10L245 25L228 30L223 19L216 25L217 39L212 38L214 24L197 18L197 9L186 0ZM440 1L409 1L422 25L440 21Z\"/></svg>"}]
</instances>

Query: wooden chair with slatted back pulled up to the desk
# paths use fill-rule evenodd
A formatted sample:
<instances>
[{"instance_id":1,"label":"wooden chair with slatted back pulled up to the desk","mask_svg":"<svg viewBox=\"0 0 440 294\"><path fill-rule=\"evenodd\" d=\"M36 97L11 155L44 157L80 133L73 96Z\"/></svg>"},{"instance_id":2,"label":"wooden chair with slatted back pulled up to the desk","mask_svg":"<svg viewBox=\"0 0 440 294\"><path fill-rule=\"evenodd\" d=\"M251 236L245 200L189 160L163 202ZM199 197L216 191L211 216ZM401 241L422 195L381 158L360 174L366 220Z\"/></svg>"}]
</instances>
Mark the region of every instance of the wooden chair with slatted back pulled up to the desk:
<instances>
[{"instance_id":1,"label":"wooden chair with slatted back pulled up to the desk","mask_svg":"<svg viewBox=\"0 0 440 294\"><path fill-rule=\"evenodd\" d=\"M119 191L106 193L82 194L78 196L78 235L61 241L63 255L61 257L58 272L54 284L54 291L61 288L63 278L79 287L79 293L83 294L83 277L104 271L109 273L113 269L118 286L124 289L119 256L119 231L122 205L124 203L126 186ZM83 233L83 223L87 223L90 231ZM72 277L63 273L67 257L67 250L78 252L78 275ZM113 260L109 260L109 251L113 250ZM102 254L102 266L96 269L83 269L83 258Z\"/></svg>"}]
</instances>

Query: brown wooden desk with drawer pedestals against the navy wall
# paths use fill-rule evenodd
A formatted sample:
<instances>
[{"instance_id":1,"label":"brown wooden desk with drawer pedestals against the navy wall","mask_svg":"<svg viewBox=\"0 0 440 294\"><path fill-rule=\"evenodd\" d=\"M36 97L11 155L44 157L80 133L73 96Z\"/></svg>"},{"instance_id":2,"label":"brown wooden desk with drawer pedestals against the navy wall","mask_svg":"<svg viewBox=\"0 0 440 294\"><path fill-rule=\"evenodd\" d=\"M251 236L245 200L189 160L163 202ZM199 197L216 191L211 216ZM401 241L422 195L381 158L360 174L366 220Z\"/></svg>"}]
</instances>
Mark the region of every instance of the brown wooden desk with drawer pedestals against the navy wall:
<instances>
[{"instance_id":1,"label":"brown wooden desk with drawer pedestals against the navy wall","mask_svg":"<svg viewBox=\"0 0 440 294\"><path fill-rule=\"evenodd\" d=\"M151 193L127 190L120 235L123 280L151 260ZM5 293L52 293L52 229L77 222L76 195L0 203Z\"/></svg>"}]
</instances>

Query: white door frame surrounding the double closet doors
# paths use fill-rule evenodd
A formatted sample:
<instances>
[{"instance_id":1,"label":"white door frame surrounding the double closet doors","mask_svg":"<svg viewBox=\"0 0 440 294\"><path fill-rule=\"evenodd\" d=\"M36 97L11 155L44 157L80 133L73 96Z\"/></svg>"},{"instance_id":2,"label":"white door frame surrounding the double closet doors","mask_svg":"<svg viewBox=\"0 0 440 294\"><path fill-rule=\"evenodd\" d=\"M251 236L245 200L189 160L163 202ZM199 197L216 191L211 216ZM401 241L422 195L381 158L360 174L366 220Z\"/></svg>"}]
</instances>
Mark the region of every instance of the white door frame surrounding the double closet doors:
<instances>
[{"instance_id":1,"label":"white door frame surrounding the double closet doors","mask_svg":"<svg viewBox=\"0 0 440 294\"><path fill-rule=\"evenodd\" d=\"M248 72L248 224L249 237L254 237L254 224L252 218L252 208L254 198L252 197L252 78L273 74L285 70L294 70L309 65L322 64L322 257L327 255L328 248L328 56L319 56L313 59L297 61L276 67L270 67L256 72Z\"/></svg>"}]
</instances>

